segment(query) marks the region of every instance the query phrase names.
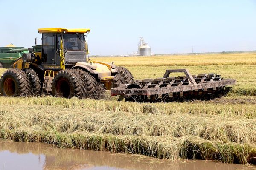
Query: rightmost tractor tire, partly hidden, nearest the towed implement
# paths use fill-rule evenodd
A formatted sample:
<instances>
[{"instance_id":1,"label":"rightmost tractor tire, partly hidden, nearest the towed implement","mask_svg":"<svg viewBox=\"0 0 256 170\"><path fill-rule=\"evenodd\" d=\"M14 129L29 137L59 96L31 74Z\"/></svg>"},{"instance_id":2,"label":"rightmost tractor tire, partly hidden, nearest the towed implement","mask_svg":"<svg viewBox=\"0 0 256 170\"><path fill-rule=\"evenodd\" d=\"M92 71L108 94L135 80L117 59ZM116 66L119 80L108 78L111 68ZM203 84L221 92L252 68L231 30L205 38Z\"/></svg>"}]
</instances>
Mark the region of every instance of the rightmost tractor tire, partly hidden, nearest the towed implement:
<instances>
[{"instance_id":1,"label":"rightmost tractor tire, partly hidden, nearest the towed implement","mask_svg":"<svg viewBox=\"0 0 256 170\"><path fill-rule=\"evenodd\" d=\"M133 82L133 76L131 72L124 67L116 67L117 74L114 79L114 86L118 87L121 84L127 84Z\"/></svg>"}]
</instances>

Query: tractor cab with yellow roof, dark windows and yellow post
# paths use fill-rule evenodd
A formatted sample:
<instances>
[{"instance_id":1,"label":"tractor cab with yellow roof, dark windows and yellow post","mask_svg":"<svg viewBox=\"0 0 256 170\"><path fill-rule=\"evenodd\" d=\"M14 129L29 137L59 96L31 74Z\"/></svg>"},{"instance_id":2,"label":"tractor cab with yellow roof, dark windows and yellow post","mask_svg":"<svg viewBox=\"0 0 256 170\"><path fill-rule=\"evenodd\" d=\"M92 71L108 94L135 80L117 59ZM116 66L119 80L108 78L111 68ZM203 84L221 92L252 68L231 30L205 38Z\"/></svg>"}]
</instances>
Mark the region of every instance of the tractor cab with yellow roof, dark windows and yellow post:
<instances>
[{"instance_id":1,"label":"tractor cab with yellow roof, dark windows and yellow post","mask_svg":"<svg viewBox=\"0 0 256 170\"><path fill-rule=\"evenodd\" d=\"M90 29L39 28L42 33L41 64L45 69L71 68L87 61L87 36Z\"/></svg>"}]
</instances>

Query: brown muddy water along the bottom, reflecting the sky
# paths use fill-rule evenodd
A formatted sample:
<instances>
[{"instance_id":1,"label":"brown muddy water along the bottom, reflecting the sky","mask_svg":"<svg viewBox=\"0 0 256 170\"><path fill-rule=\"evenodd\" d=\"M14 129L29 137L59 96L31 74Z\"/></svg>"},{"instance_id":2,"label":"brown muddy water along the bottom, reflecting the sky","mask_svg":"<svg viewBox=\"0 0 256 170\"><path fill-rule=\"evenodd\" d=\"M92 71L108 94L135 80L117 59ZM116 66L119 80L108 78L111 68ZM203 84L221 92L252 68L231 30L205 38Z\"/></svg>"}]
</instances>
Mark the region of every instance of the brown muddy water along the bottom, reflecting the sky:
<instances>
[{"instance_id":1,"label":"brown muddy water along the bottom, reflecting the sky","mask_svg":"<svg viewBox=\"0 0 256 170\"><path fill-rule=\"evenodd\" d=\"M215 161L170 161L131 154L55 148L47 144L0 141L0 170L256 170L256 166Z\"/></svg>"}]
</instances>

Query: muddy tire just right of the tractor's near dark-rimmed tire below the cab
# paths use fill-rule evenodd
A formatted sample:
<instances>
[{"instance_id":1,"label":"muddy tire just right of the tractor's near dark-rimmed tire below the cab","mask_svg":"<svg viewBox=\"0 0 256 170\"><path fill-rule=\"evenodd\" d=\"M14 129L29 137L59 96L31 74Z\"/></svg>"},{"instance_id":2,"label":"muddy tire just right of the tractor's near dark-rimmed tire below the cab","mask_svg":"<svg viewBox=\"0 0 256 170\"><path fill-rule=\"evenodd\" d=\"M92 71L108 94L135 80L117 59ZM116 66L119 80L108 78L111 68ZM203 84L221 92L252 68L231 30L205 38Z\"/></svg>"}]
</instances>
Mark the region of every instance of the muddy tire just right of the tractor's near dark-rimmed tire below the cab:
<instances>
[{"instance_id":1,"label":"muddy tire just right of the tractor's near dark-rimmed tire below the cab","mask_svg":"<svg viewBox=\"0 0 256 170\"><path fill-rule=\"evenodd\" d=\"M102 95L102 92L104 91L102 85L99 82L97 82L97 80L86 71L82 69L76 69L76 72L80 74L84 82L86 97L99 98Z\"/></svg>"}]
</instances>

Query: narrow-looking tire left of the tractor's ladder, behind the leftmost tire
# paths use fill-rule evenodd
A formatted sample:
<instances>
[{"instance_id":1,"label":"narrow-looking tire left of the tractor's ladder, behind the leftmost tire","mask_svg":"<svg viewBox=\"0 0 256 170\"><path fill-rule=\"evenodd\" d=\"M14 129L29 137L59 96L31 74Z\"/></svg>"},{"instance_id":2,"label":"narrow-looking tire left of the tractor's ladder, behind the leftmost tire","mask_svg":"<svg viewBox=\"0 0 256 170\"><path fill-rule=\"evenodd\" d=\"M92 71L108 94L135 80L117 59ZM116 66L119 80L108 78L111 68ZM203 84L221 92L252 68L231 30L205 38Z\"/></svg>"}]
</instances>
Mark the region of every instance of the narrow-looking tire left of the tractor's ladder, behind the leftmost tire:
<instances>
[{"instance_id":1,"label":"narrow-looking tire left of the tractor's ladder, behind the leftmost tire","mask_svg":"<svg viewBox=\"0 0 256 170\"><path fill-rule=\"evenodd\" d=\"M38 96L41 93L41 81L38 74L31 68L25 68L23 71L29 78L31 95Z\"/></svg>"}]
</instances>

